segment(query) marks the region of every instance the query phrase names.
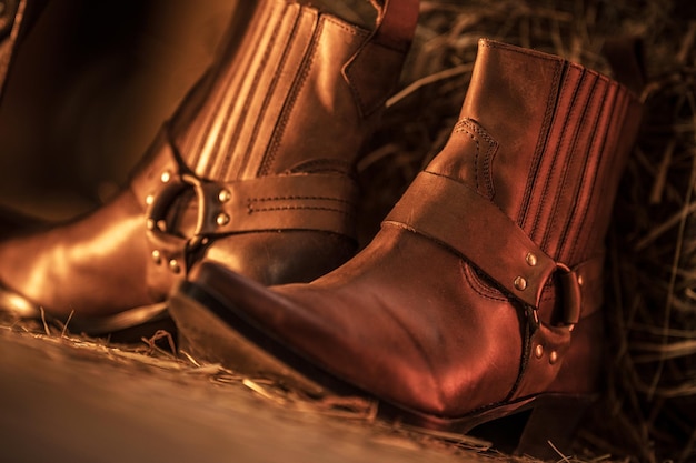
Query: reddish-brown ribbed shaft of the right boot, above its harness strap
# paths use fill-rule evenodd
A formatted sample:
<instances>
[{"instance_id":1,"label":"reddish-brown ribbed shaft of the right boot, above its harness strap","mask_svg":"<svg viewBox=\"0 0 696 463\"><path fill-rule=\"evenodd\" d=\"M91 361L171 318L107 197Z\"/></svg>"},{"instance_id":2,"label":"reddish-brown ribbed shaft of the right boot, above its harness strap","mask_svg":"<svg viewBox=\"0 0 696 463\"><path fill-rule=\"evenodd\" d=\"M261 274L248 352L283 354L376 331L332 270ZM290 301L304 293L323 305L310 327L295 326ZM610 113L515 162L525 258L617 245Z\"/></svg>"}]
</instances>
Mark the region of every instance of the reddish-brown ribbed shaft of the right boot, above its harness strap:
<instances>
[{"instance_id":1,"label":"reddish-brown ribbed shaft of the right boot, above its harness strap","mask_svg":"<svg viewBox=\"0 0 696 463\"><path fill-rule=\"evenodd\" d=\"M428 170L468 183L574 265L603 248L639 122L635 95L609 78L481 40L460 122Z\"/></svg>"}]
</instances>

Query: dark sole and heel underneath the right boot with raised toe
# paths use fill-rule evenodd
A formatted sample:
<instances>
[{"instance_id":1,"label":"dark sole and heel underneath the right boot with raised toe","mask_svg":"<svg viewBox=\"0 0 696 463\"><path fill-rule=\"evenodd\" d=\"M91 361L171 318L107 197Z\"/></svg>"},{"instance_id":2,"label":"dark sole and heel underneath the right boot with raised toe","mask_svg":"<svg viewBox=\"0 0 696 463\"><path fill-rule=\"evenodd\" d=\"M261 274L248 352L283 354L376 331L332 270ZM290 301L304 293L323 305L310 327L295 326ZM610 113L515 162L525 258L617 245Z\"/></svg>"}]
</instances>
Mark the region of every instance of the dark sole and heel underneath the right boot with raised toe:
<instances>
[{"instance_id":1,"label":"dark sole and heel underneath the right boot with raised toe","mask_svg":"<svg viewBox=\"0 0 696 463\"><path fill-rule=\"evenodd\" d=\"M515 433L511 445L509 442L497 443L495 434L486 435L497 449L507 447L508 453L543 460L558 460L567 455L577 425L594 401L587 394L546 393L491 405L460 417L436 416L375 397L317 368L282 341L265 333L233 306L221 303L191 282L183 282L169 301L181 350L195 359L220 363L243 375L275 380L281 386L300 390L310 396L374 397L378 402L378 416L382 419L416 429L460 434L481 425L489 426L486 430L488 433L509 434L509 429L496 431L495 422L529 412L528 417L517 424L521 429ZM500 426L507 427L508 424L500 423Z\"/></svg>"}]
</instances>

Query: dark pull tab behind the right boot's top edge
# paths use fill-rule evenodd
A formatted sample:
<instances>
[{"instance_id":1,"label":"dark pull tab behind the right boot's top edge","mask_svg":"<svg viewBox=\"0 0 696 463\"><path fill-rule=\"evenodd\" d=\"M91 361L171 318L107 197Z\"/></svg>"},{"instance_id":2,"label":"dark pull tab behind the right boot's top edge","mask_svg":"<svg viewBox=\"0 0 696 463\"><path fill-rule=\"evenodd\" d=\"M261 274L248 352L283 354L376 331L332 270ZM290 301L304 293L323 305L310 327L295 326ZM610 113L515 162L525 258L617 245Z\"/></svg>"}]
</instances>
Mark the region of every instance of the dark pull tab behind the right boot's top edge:
<instances>
[{"instance_id":1,"label":"dark pull tab behind the right boot's top edge","mask_svg":"<svg viewBox=\"0 0 696 463\"><path fill-rule=\"evenodd\" d=\"M612 67L614 79L640 97L646 83L643 40L634 36L608 38L601 52Z\"/></svg>"}]
</instances>

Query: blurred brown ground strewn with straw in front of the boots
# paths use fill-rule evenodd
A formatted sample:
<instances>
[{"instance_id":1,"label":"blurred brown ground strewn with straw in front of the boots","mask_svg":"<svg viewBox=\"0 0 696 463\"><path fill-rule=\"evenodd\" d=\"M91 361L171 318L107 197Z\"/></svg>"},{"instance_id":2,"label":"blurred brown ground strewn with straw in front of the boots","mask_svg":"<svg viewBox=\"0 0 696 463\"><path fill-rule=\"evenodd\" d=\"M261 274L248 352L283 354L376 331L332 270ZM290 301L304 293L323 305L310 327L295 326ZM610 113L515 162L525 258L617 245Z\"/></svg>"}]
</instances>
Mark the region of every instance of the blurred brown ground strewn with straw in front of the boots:
<instances>
[{"instance_id":1,"label":"blurred brown ground strewn with straw in front of the boots","mask_svg":"<svg viewBox=\"0 0 696 463\"><path fill-rule=\"evenodd\" d=\"M367 401L309 402L166 351L0 328L0 462L484 462Z\"/></svg>"}]
</instances>

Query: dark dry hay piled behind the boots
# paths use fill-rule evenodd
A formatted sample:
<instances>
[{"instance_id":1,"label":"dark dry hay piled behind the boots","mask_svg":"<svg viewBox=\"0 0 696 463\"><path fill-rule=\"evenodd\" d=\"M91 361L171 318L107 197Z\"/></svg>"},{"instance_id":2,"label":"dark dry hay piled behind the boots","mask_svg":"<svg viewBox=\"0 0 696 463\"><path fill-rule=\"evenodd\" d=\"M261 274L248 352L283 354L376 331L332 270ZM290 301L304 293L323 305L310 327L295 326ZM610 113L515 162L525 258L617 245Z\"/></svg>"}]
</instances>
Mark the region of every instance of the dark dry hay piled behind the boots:
<instances>
[{"instance_id":1,"label":"dark dry hay piled behind the boots","mask_svg":"<svg viewBox=\"0 0 696 463\"><path fill-rule=\"evenodd\" d=\"M480 37L612 74L607 38L644 44L646 117L609 233L606 390L580 432L596 455L696 460L696 7L688 0L422 1L404 91L360 163L362 238L443 147Z\"/></svg>"}]
</instances>

